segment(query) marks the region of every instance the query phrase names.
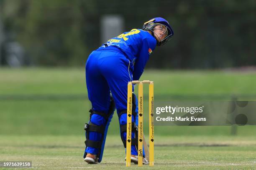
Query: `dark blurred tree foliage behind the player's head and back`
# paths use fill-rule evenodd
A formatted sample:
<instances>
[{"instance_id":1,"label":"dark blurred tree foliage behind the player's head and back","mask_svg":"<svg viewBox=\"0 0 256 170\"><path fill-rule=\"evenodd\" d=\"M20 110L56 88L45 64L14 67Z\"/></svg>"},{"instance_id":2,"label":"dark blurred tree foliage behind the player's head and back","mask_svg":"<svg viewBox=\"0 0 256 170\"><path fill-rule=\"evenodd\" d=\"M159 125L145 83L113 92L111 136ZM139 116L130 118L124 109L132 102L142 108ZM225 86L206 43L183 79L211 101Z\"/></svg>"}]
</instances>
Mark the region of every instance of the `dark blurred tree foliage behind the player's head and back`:
<instances>
[{"instance_id":1,"label":"dark blurred tree foliage behind the player's head and back","mask_svg":"<svg viewBox=\"0 0 256 170\"><path fill-rule=\"evenodd\" d=\"M254 0L2 0L5 30L15 32L38 65L84 65L100 46L100 18L118 14L125 31L166 18L174 37L157 48L154 68L255 65ZM117 35L120 32L117 32Z\"/></svg>"}]
</instances>

